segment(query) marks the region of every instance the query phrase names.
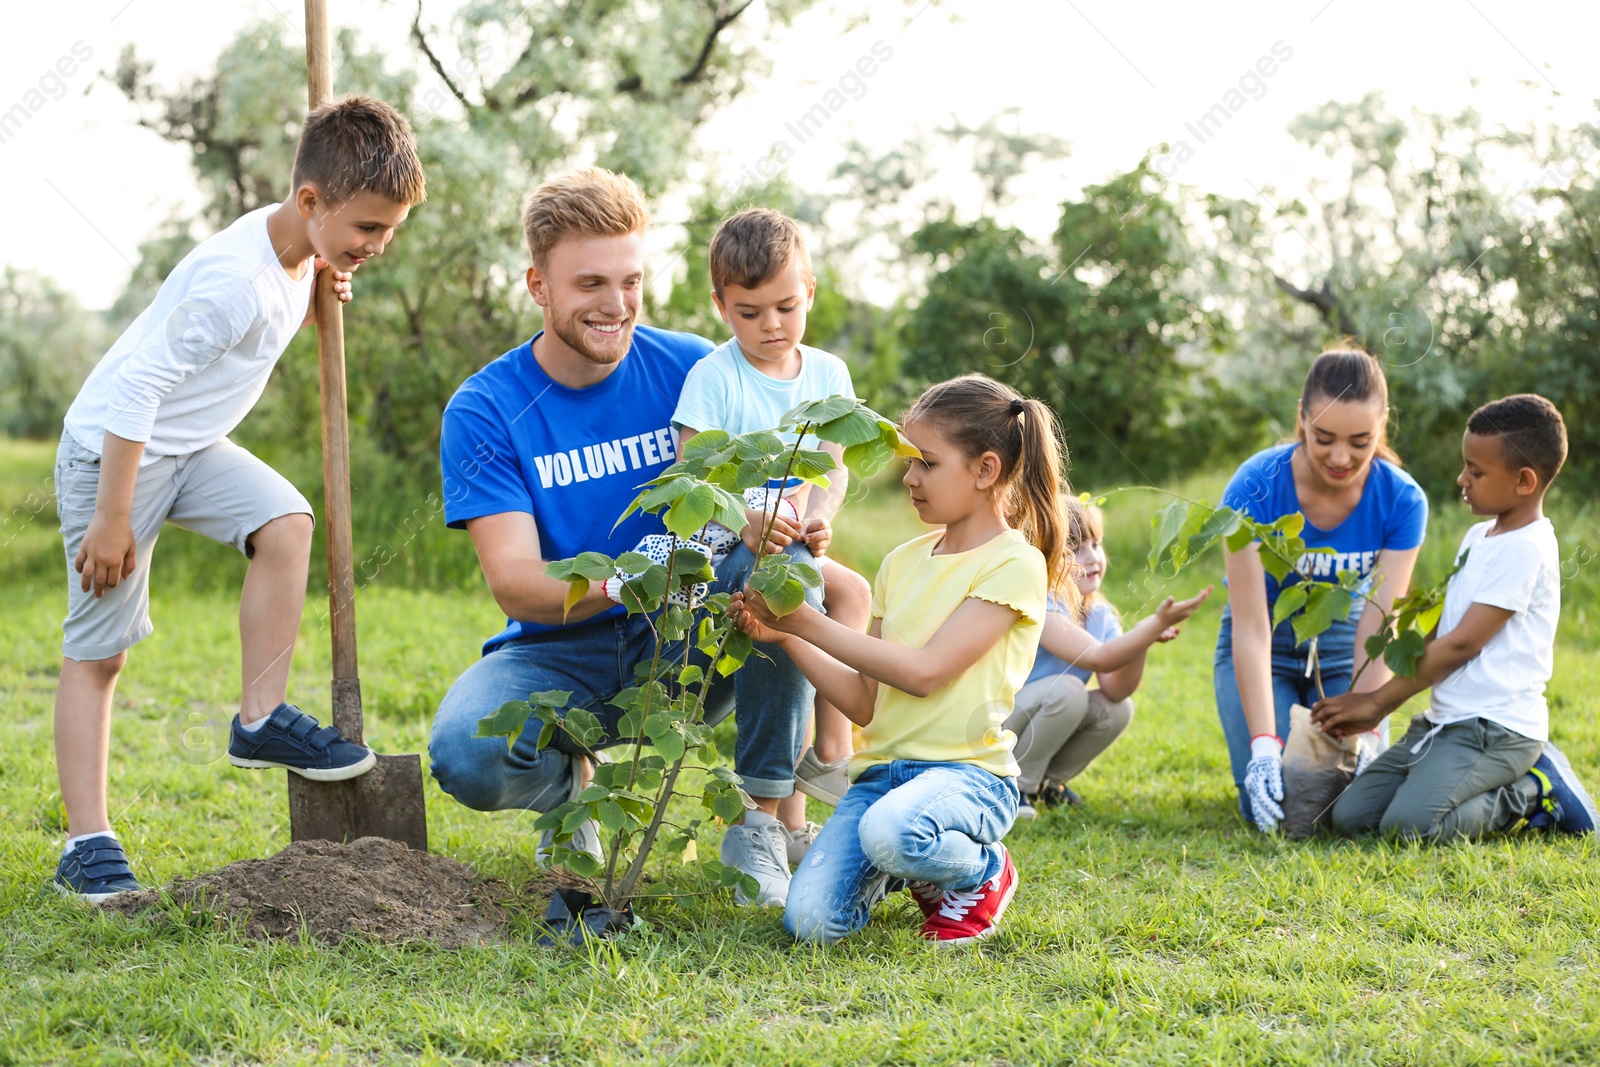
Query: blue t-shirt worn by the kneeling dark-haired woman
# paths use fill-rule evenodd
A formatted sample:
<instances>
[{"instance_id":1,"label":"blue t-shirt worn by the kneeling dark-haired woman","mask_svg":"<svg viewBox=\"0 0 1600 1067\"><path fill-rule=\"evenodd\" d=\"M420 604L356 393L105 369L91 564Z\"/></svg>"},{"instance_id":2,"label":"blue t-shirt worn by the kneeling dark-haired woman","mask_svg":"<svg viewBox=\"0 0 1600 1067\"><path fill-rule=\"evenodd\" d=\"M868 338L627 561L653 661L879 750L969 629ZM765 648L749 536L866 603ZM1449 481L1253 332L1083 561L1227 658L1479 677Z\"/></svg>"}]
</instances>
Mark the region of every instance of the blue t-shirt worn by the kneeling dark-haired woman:
<instances>
[{"instance_id":1,"label":"blue t-shirt worn by the kneeling dark-haired woman","mask_svg":"<svg viewBox=\"0 0 1600 1067\"><path fill-rule=\"evenodd\" d=\"M1298 512L1299 494L1294 491L1294 469L1290 462L1298 442L1274 445L1256 453L1234 474L1222 493L1222 504L1245 512L1258 523L1270 523L1282 515ZM1366 577L1384 549L1405 552L1422 544L1427 531L1427 496L1422 486L1387 459L1374 459L1362 486L1362 501L1350 515L1333 530L1314 526L1309 520L1301 531L1307 549L1333 549L1307 552L1296 569L1318 582L1338 582L1339 571L1355 571ZM1267 574L1267 605L1278 600L1282 585Z\"/></svg>"}]
</instances>

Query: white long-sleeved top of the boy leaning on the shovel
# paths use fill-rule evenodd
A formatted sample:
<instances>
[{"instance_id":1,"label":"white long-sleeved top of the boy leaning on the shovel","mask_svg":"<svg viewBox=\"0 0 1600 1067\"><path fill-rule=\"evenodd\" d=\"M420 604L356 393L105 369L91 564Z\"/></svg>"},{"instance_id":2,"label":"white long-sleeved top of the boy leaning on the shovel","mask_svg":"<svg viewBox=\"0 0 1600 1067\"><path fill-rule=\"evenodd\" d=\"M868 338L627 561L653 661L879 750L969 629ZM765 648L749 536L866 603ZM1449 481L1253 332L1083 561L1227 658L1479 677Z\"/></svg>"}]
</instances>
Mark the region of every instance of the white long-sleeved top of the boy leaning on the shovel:
<instances>
[{"instance_id":1,"label":"white long-sleeved top of the boy leaning on the shovel","mask_svg":"<svg viewBox=\"0 0 1600 1067\"><path fill-rule=\"evenodd\" d=\"M106 432L144 442L144 459L214 445L261 398L306 320L315 274L285 274L267 237L275 206L200 242L90 373L67 432L99 454Z\"/></svg>"}]
</instances>

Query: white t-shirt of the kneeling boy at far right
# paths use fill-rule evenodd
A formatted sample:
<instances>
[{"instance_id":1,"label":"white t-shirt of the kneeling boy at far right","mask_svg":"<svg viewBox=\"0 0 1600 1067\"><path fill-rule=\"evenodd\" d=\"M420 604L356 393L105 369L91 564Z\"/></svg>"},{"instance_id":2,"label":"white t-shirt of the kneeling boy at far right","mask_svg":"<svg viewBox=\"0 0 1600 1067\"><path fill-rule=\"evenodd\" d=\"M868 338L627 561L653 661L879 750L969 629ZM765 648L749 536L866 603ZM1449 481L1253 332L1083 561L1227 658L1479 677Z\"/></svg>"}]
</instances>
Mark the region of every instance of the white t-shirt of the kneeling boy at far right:
<instances>
[{"instance_id":1,"label":"white t-shirt of the kneeling boy at far right","mask_svg":"<svg viewBox=\"0 0 1600 1067\"><path fill-rule=\"evenodd\" d=\"M1461 625L1475 603L1517 614L1477 656L1434 686L1427 718L1437 725L1488 718L1525 737L1549 741L1544 683L1555 665L1562 552L1549 518L1490 537L1493 525L1478 523L1461 539L1456 558L1466 553L1467 561L1445 589L1438 635Z\"/></svg>"}]
</instances>

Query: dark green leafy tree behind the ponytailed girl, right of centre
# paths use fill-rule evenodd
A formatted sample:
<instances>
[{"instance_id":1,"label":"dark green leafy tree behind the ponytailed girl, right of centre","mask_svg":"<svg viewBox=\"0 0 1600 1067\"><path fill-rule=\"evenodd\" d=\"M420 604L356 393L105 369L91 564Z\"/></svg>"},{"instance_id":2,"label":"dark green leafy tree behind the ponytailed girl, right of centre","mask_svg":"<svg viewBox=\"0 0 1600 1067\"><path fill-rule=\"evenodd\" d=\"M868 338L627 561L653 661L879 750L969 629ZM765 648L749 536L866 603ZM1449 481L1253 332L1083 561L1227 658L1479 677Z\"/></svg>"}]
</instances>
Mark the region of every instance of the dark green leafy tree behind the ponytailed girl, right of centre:
<instances>
[{"instance_id":1,"label":"dark green leafy tree behind the ponytailed girl, right of centre","mask_svg":"<svg viewBox=\"0 0 1600 1067\"><path fill-rule=\"evenodd\" d=\"M922 227L933 264L910 315L907 368L922 381L982 371L1050 402L1075 477L1162 478L1194 459L1214 406L1186 346L1206 315L1181 286L1190 256L1165 179L1147 163L1061 206L1051 248L992 219Z\"/></svg>"}]
</instances>

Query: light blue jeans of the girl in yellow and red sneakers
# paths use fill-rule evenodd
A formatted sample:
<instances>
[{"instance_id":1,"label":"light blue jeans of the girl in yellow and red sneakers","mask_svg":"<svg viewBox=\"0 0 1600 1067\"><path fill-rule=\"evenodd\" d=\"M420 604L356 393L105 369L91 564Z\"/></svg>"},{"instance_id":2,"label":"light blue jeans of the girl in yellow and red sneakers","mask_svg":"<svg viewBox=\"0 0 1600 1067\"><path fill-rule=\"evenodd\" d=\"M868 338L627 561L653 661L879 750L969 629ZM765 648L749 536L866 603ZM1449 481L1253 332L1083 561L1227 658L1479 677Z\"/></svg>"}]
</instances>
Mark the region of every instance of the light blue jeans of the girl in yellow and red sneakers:
<instances>
[{"instance_id":1,"label":"light blue jeans of the girl in yellow and red sneakers","mask_svg":"<svg viewBox=\"0 0 1600 1067\"><path fill-rule=\"evenodd\" d=\"M890 877L965 889L1005 865L1014 777L971 763L894 760L861 773L789 883L784 929L832 944L867 925Z\"/></svg>"}]
</instances>

